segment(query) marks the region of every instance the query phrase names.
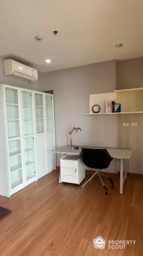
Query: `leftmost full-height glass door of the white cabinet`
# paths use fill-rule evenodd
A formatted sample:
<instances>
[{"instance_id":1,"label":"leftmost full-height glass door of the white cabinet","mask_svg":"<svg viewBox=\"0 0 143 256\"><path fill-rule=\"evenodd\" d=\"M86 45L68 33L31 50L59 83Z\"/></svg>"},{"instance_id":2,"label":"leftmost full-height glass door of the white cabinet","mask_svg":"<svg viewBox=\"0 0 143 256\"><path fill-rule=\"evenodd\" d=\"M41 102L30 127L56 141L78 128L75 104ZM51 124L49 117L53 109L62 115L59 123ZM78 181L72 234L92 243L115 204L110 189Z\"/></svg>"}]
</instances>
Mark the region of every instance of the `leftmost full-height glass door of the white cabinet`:
<instances>
[{"instance_id":1,"label":"leftmost full-height glass door of the white cabinet","mask_svg":"<svg viewBox=\"0 0 143 256\"><path fill-rule=\"evenodd\" d=\"M5 87L5 102L10 169L10 194L12 195L24 187L18 89Z\"/></svg>"}]
</instances>

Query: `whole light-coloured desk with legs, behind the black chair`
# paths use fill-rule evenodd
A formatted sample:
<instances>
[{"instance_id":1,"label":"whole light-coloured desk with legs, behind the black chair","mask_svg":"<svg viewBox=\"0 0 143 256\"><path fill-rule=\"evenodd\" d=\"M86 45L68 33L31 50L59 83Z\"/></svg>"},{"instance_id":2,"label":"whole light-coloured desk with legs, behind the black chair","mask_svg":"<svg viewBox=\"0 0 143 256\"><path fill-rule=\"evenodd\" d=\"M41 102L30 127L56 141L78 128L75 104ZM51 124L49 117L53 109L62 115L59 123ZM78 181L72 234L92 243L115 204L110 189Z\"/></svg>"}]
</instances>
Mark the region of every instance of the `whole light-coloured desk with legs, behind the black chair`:
<instances>
[{"instance_id":1,"label":"whole light-coloured desk with legs, behind the black chair","mask_svg":"<svg viewBox=\"0 0 143 256\"><path fill-rule=\"evenodd\" d=\"M114 159L120 160L120 194L123 194L123 184L125 179L127 178L126 171L123 174L123 160L124 159L130 159L133 149L132 148L115 148L115 147L90 147L90 146L79 146L78 150L71 149L69 146L63 146L56 150L53 150L52 152L58 153L58 154L69 154L69 155L80 155L81 148L105 148L107 149L109 155ZM59 177L60 182L60 177Z\"/></svg>"}]
</instances>

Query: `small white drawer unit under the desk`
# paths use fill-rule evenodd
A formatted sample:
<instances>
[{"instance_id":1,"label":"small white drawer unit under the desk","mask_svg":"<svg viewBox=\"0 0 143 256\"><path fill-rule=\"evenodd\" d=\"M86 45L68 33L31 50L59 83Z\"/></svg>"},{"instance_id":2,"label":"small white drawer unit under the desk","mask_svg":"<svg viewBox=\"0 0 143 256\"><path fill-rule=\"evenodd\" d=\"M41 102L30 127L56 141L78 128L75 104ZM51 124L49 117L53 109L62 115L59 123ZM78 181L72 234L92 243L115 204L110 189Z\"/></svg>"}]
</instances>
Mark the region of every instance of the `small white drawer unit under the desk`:
<instances>
[{"instance_id":1,"label":"small white drawer unit under the desk","mask_svg":"<svg viewBox=\"0 0 143 256\"><path fill-rule=\"evenodd\" d=\"M61 182L80 184L85 178L85 166L78 155L65 155L60 159Z\"/></svg>"}]
</instances>

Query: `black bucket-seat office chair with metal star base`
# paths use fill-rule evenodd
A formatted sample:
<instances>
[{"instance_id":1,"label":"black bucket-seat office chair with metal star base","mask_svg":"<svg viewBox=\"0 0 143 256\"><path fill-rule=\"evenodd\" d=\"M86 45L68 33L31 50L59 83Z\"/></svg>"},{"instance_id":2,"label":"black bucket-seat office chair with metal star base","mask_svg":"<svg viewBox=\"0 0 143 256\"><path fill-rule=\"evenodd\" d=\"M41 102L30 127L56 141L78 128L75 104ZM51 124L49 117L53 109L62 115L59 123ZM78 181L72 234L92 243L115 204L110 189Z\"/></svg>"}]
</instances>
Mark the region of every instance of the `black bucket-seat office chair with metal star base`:
<instances>
[{"instance_id":1,"label":"black bucket-seat office chair with metal star base","mask_svg":"<svg viewBox=\"0 0 143 256\"><path fill-rule=\"evenodd\" d=\"M100 174L106 177L110 180L112 184L112 189L114 188L114 183L112 179L105 176L103 173L101 173L99 170L108 168L110 162L113 160L113 158L109 155L108 151L106 149L96 149L96 148L82 148L82 151L80 153L80 158L82 159L83 163L89 167L93 168L95 170L95 173L92 175L92 177L83 184L82 188L87 184L93 177L98 174L103 187L105 189L105 195L108 195L107 187L105 186L102 178L100 177Z\"/></svg>"}]
</instances>

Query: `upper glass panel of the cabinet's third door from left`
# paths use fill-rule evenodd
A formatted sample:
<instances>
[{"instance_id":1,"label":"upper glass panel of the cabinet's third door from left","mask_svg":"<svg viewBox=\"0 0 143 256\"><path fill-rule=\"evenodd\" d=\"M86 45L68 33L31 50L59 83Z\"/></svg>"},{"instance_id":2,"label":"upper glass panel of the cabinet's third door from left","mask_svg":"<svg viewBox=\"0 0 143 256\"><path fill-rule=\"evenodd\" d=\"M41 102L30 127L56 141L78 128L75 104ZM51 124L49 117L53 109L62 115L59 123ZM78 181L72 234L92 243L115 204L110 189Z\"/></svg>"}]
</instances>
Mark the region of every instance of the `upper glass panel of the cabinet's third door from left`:
<instances>
[{"instance_id":1,"label":"upper glass panel of the cabinet's third door from left","mask_svg":"<svg viewBox=\"0 0 143 256\"><path fill-rule=\"evenodd\" d=\"M35 111L36 111L36 131L37 133L44 133L44 104L43 95L35 93Z\"/></svg>"}]
</instances>

